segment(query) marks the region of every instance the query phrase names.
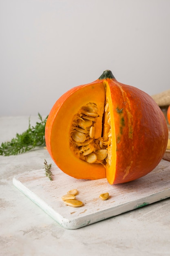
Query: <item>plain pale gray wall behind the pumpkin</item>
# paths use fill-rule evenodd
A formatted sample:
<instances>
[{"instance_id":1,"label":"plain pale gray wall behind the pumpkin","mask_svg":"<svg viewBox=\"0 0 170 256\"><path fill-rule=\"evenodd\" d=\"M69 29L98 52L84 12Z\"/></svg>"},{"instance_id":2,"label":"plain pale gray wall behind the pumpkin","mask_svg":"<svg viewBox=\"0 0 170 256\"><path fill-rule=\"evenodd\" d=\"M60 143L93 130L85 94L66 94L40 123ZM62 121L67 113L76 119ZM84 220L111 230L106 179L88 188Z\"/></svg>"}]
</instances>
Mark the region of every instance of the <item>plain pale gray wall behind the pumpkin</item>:
<instances>
[{"instance_id":1,"label":"plain pale gray wall behind the pumpkin","mask_svg":"<svg viewBox=\"0 0 170 256\"><path fill-rule=\"evenodd\" d=\"M170 0L0 0L0 116L48 115L106 69L170 89Z\"/></svg>"}]
</instances>

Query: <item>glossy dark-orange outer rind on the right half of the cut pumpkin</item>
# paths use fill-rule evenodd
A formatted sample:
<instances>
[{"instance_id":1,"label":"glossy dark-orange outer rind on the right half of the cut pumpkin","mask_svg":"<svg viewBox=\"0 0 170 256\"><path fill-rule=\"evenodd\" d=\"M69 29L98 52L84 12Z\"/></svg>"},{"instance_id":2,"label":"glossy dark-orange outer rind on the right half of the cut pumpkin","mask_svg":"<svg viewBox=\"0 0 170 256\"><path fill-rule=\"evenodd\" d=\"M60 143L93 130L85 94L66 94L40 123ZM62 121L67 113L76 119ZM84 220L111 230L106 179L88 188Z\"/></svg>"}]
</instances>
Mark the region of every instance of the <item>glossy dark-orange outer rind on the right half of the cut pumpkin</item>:
<instances>
[{"instance_id":1,"label":"glossy dark-orange outer rind on the right half of the cut pumpkin","mask_svg":"<svg viewBox=\"0 0 170 256\"><path fill-rule=\"evenodd\" d=\"M145 92L132 86L108 81L113 104L116 158L113 168L106 167L110 184L142 177L161 161L168 141L165 118ZM117 95L115 99L115 95Z\"/></svg>"}]
</instances>

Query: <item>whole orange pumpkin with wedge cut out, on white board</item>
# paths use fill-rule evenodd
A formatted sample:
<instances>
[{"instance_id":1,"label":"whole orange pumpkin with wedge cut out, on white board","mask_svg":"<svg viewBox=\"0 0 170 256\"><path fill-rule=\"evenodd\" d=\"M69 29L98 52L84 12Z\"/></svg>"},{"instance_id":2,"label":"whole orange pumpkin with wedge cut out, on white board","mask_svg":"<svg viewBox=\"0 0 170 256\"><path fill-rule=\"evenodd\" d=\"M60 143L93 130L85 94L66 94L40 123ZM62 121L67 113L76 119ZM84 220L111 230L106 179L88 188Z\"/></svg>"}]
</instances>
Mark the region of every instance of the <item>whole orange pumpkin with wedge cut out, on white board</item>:
<instances>
[{"instance_id":1,"label":"whole orange pumpkin with wedge cut out, on white board","mask_svg":"<svg viewBox=\"0 0 170 256\"><path fill-rule=\"evenodd\" d=\"M119 83L106 70L96 81L72 88L56 101L46 121L45 140L64 173L119 184L159 164L168 128L148 94Z\"/></svg>"}]
</instances>

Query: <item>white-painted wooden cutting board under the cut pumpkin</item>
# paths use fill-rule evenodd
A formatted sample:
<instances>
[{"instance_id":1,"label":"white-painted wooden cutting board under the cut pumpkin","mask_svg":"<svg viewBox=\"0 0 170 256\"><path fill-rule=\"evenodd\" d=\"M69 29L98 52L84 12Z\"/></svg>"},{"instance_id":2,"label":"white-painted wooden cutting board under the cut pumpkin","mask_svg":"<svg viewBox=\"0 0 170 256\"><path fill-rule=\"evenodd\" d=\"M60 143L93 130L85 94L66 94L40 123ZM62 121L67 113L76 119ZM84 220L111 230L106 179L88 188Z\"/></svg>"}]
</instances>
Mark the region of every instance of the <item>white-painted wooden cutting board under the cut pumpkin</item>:
<instances>
[{"instance_id":1,"label":"white-painted wooden cutting board under the cut pumpkin","mask_svg":"<svg viewBox=\"0 0 170 256\"><path fill-rule=\"evenodd\" d=\"M15 176L13 184L66 229L78 229L170 197L170 162L163 159L148 175L117 185L106 179L77 180L57 166L52 173L50 181L44 169L29 171ZM84 203L82 207L70 207L62 201L62 195L71 189L79 191L76 199ZM99 199L104 192L110 194L106 201Z\"/></svg>"}]
</instances>

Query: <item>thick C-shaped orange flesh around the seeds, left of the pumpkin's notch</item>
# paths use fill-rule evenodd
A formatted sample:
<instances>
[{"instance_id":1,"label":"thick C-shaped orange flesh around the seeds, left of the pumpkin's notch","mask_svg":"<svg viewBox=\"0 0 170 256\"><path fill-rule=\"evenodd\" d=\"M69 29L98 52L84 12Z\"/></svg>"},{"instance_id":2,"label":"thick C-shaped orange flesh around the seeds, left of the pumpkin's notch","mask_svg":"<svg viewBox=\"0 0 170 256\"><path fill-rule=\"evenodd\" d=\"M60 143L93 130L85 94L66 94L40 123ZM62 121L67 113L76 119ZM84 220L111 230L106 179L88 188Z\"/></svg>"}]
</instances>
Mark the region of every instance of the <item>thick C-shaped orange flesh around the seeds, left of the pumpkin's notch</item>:
<instances>
[{"instance_id":1,"label":"thick C-shaped orange flesh around the seeds, left of the pumpkin's notch","mask_svg":"<svg viewBox=\"0 0 170 256\"><path fill-rule=\"evenodd\" d=\"M77 179L94 180L106 177L105 167L82 161L74 154L70 145L73 118L82 106L89 102L97 105L99 114L102 116L105 102L105 89L102 81L82 85L66 92L51 110L51 115L46 122L45 137L47 150L62 171Z\"/></svg>"}]
</instances>

